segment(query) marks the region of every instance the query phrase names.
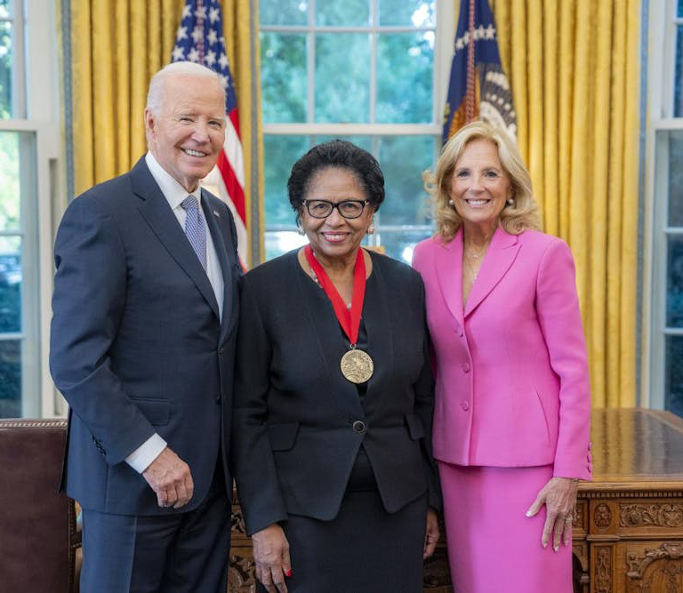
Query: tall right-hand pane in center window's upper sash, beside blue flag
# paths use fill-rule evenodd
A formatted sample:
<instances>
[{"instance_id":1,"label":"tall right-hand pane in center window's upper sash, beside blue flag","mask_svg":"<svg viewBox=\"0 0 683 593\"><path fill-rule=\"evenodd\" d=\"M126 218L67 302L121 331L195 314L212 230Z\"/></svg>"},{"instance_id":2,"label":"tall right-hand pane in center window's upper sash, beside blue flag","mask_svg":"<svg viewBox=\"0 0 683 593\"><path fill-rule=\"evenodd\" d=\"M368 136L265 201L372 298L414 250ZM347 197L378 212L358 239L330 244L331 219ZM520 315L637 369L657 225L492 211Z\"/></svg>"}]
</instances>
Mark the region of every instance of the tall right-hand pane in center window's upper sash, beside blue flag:
<instances>
[{"instance_id":1,"label":"tall right-hand pane in center window's upper sash, beside blue flag","mask_svg":"<svg viewBox=\"0 0 683 593\"><path fill-rule=\"evenodd\" d=\"M431 122L434 32L379 36L377 109L380 124Z\"/></svg>"}]
</instances>

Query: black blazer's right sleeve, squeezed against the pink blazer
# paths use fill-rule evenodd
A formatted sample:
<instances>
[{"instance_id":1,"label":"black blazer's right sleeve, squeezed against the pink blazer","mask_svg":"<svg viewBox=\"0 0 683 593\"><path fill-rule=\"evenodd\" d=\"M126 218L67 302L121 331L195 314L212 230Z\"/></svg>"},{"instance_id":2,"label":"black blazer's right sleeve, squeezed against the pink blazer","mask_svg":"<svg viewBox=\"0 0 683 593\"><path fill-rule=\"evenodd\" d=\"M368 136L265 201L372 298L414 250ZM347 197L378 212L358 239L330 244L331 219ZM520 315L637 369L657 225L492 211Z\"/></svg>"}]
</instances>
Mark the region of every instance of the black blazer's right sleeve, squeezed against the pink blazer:
<instances>
[{"instance_id":1,"label":"black blazer's right sleeve, squeezed against the pink blazer","mask_svg":"<svg viewBox=\"0 0 683 593\"><path fill-rule=\"evenodd\" d=\"M414 413L422 419L424 425L424 438L422 439L422 457L424 460L425 476L427 477L428 500L427 503L433 509L441 510L441 486L438 479L437 464L431 447L431 427L434 417L434 374L431 368L430 333L427 329L427 314L425 310L424 284L420 280L419 307L422 311L422 326L424 339L422 341L422 356L424 364L418 380L414 385L415 404Z\"/></svg>"}]
</instances>

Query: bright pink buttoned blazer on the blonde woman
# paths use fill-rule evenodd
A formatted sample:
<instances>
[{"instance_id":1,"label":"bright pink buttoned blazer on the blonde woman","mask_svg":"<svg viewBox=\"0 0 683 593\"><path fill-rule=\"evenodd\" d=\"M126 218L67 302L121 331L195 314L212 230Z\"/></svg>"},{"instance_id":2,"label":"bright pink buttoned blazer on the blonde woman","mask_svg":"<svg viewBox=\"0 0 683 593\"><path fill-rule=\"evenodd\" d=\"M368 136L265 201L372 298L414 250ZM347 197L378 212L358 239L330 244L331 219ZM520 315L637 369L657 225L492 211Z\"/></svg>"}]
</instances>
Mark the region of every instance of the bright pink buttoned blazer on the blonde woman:
<instances>
[{"instance_id":1,"label":"bright pink buttoned blazer on the blonde woman","mask_svg":"<svg viewBox=\"0 0 683 593\"><path fill-rule=\"evenodd\" d=\"M434 457L553 464L591 479L591 394L572 254L537 231L494 233L462 308L462 229L415 247L436 358Z\"/></svg>"}]
</instances>

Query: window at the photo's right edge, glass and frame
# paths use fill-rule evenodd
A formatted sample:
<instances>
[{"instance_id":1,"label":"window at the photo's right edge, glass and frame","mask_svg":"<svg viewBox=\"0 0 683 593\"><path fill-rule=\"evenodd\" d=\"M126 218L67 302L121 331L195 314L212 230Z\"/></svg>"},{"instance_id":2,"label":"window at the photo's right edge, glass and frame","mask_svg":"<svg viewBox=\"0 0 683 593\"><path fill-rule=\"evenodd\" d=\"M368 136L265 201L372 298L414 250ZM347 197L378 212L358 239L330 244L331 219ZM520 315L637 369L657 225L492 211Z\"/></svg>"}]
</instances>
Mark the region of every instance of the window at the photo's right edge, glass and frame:
<instances>
[{"instance_id":1,"label":"window at the photo's right edge, glass and frame","mask_svg":"<svg viewBox=\"0 0 683 593\"><path fill-rule=\"evenodd\" d=\"M650 59L648 76L653 221L649 403L683 416L683 0L654 8L661 12L651 14L650 36L664 43Z\"/></svg>"}]
</instances>

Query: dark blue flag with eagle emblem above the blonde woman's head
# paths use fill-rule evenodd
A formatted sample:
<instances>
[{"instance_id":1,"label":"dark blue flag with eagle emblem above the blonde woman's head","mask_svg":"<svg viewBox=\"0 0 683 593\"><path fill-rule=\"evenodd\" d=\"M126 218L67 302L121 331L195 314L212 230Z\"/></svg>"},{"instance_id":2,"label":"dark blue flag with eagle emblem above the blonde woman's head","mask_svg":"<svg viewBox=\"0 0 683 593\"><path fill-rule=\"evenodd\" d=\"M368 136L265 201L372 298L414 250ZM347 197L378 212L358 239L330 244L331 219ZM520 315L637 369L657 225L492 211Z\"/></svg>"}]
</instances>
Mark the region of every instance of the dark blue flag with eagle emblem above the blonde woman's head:
<instances>
[{"instance_id":1,"label":"dark blue flag with eagle emblem above the blonde woman's head","mask_svg":"<svg viewBox=\"0 0 683 593\"><path fill-rule=\"evenodd\" d=\"M444 110L444 143L477 117L517 135L517 114L502 71L488 0L461 0Z\"/></svg>"}]
</instances>

